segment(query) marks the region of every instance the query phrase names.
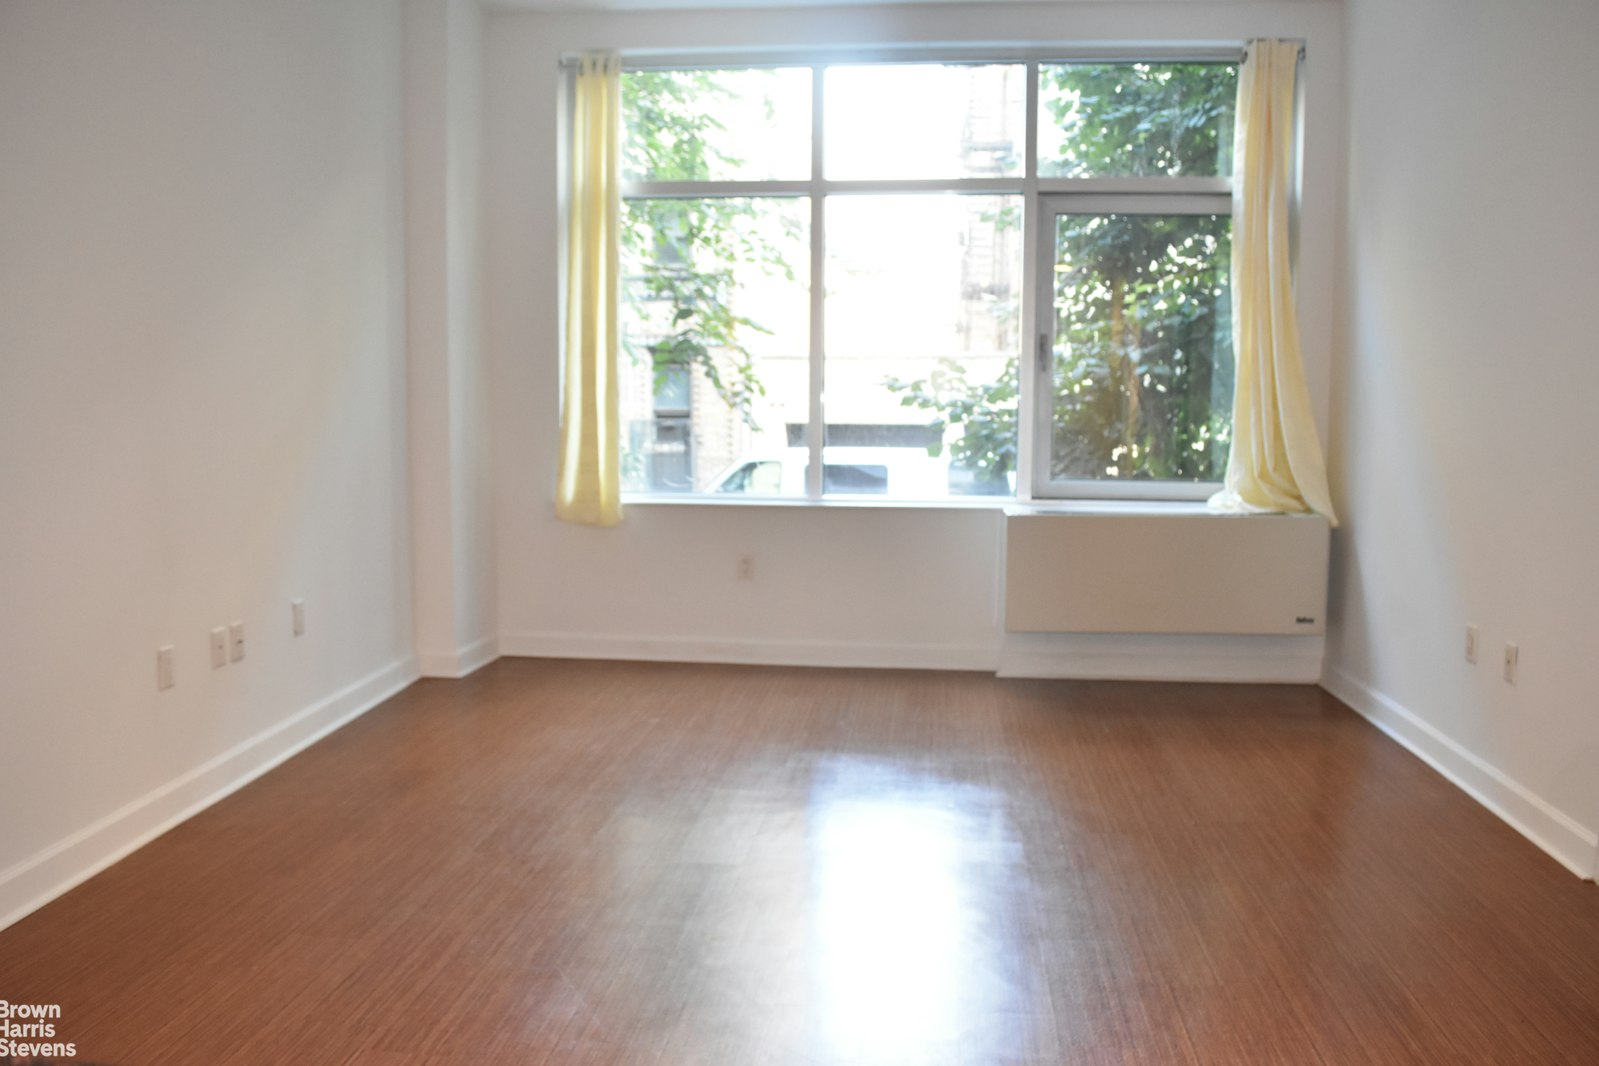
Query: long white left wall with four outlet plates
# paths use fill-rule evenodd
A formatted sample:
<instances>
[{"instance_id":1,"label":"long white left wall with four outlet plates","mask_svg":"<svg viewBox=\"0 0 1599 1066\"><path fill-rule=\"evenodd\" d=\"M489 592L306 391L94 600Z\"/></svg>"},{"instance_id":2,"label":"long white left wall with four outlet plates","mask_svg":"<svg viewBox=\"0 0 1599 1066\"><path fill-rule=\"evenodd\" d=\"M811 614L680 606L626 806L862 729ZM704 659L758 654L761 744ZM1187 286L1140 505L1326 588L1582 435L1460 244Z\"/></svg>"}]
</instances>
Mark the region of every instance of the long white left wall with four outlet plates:
<instances>
[{"instance_id":1,"label":"long white left wall with four outlet plates","mask_svg":"<svg viewBox=\"0 0 1599 1066\"><path fill-rule=\"evenodd\" d=\"M400 54L0 5L0 924L413 676Z\"/></svg>"}]
</instances>

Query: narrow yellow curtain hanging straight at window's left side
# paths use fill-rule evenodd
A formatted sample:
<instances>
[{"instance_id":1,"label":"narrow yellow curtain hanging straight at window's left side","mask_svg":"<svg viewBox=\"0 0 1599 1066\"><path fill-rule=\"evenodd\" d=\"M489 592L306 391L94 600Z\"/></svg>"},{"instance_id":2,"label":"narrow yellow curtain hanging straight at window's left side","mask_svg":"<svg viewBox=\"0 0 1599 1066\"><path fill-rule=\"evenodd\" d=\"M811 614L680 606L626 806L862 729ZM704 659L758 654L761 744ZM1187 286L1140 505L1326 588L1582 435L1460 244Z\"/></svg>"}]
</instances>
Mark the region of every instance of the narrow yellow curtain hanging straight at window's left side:
<instances>
[{"instance_id":1,"label":"narrow yellow curtain hanging straight at window's left side","mask_svg":"<svg viewBox=\"0 0 1599 1066\"><path fill-rule=\"evenodd\" d=\"M584 56L572 117L566 390L555 515L590 526L622 521L616 390L620 75L622 61L614 53Z\"/></svg>"}]
</instances>

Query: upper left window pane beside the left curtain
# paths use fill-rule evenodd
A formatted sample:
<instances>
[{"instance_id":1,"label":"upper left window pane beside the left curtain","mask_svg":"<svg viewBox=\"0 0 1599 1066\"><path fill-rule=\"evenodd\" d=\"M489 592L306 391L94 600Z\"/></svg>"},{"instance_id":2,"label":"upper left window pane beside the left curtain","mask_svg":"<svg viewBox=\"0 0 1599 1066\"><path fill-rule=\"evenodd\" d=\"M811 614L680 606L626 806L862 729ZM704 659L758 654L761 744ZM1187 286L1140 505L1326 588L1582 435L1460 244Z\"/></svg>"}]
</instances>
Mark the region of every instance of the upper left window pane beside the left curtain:
<instances>
[{"instance_id":1,"label":"upper left window pane beside the left curtain","mask_svg":"<svg viewBox=\"0 0 1599 1066\"><path fill-rule=\"evenodd\" d=\"M622 74L624 181L811 177L811 69Z\"/></svg>"}]
</instances>

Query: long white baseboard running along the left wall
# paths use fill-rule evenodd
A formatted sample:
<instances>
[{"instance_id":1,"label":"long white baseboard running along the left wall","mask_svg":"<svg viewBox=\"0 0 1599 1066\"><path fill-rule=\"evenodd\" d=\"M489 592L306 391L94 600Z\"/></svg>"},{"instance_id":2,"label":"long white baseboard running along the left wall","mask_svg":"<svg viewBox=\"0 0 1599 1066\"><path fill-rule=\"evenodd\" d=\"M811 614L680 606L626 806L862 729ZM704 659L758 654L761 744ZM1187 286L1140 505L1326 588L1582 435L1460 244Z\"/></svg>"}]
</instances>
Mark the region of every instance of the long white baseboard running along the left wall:
<instances>
[{"instance_id":1,"label":"long white baseboard running along the left wall","mask_svg":"<svg viewBox=\"0 0 1599 1066\"><path fill-rule=\"evenodd\" d=\"M289 756L377 706L416 678L413 658L397 660L64 841L0 871L0 929L32 914L181 821L238 791Z\"/></svg>"}]
</instances>

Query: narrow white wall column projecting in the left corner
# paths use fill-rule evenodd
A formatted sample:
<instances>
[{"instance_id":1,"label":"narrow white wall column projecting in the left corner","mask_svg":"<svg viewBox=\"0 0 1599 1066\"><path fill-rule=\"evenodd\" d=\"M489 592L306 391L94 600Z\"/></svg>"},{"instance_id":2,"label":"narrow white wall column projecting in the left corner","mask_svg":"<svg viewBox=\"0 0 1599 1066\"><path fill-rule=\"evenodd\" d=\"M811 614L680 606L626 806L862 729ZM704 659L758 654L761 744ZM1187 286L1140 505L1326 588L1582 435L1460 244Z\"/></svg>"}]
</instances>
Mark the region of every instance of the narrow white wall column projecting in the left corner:
<instances>
[{"instance_id":1,"label":"narrow white wall column projecting in the left corner","mask_svg":"<svg viewBox=\"0 0 1599 1066\"><path fill-rule=\"evenodd\" d=\"M481 344L483 16L406 0L406 328L416 646L424 674L492 658L494 513Z\"/></svg>"}]
</instances>

